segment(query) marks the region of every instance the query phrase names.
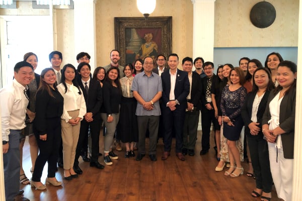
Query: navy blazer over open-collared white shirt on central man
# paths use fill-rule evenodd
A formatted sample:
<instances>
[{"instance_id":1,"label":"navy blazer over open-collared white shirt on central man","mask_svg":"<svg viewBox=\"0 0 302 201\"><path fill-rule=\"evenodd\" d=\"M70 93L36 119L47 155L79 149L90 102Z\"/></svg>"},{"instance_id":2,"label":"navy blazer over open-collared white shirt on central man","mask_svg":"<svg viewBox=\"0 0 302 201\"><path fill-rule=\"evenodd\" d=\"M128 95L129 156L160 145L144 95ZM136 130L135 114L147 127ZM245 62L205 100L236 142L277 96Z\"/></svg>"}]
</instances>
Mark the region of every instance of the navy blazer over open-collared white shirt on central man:
<instances>
[{"instance_id":1,"label":"navy blazer over open-collared white shirt on central man","mask_svg":"<svg viewBox=\"0 0 302 201\"><path fill-rule=\"evenodd\" d=\"M171 89L171 76L170 70L167 70L162 73L162 83L163 83L163 95L162 95L162 104L163 107L166 107L167 103L170 101L170 89ZM176 105L177 108L181 108L186 110L187 108L187 96L190 92L190 82L188 78L188 73L184 72L180 69L177 69L176 81L175 81L175 89L174 95L175 99L178 100L179 106Z\"/></svg>"}]
</instances>

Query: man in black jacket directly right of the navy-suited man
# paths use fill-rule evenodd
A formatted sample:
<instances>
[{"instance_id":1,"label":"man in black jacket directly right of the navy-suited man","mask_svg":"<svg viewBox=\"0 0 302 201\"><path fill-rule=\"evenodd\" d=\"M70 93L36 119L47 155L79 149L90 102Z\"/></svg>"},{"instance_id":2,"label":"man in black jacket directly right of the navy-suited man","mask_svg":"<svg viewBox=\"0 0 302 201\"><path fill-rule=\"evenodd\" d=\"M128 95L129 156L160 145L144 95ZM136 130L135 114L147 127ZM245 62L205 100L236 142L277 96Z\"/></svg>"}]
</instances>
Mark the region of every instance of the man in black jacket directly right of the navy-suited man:
<instances>
[{"instance_id":1,"label":"man in black jacket directly right of the navy-suited man","mask_svg":"<svg viewBox=\"0 0 302 201\"><path fill-rule=\"evenodd\" d=\"M189 156L195 155L195 144L197 140L197 128L199 121L201 78L197 72L192 71L193 59L185 57L182 60L182 68L188 73L190 81L190 93L187 96L187 109L184 123L184 141L182 154ZM189 139L188 139L189 137Z\"/></svg>"}]
</instances>

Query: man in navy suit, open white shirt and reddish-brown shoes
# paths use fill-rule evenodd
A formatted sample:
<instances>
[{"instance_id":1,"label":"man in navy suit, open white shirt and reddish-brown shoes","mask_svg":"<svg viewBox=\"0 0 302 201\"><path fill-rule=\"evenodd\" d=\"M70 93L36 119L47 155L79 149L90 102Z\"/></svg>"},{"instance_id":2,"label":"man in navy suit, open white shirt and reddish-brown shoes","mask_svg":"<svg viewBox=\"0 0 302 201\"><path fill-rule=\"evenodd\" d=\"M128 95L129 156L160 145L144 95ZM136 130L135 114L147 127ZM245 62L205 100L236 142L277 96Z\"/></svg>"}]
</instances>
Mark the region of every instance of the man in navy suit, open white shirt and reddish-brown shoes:
<instances>
[{"instance_id":1,"label":"man in navy suit, open white shirt and reddish-brown shoes","mask_svg":"<svg viewBox=\"0 0 302 201\"><path fill-rule=\"evenodd\" d=\"M162 160L170 156L172 143L172 128L175 129L176 155L180 160L185 160L181 153L183 144L183 125L187 108L187 95L190 91L188 73L177 69L178 55L172 53L168 57L169 71L163 72L162 115L165 124L164 144L165 151Z\"/></svg>"}]
</instances>

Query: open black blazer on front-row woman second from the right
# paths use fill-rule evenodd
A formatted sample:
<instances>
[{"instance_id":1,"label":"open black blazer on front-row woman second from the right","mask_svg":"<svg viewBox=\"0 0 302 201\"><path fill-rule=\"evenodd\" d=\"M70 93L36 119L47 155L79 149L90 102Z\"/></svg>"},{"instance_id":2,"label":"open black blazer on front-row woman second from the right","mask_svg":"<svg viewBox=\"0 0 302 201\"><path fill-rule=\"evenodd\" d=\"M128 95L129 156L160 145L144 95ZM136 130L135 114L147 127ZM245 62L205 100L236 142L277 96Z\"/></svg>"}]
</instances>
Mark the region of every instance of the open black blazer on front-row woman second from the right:
<instances>
[{"instance_id":1,"label":"open black blazer on front-row woman second from the right","mask_svg":"<svg viewBox=\"0 0 302 201\"><path fill-rule=\"evenodd\" d=\"M252 109L253 109L253 102L254 99L256 97L257 91L251 91L248 93L247 98L246 98L246 102L243 105L242 109L241 109L241 117L244 121L245 124L245 131L246 134L249 136L253 136L250 133L250 128L249 128L249 124L252 123L251 117L252 117ZM260 131L258 133L258 137L263 138L263 133L262 133L262 117L263 117L263 113L265 111L266 108L266 103L267 103L267 99L269 96L269 91L265 91L261 102L259 104L258 107L258 111L257 111L257 123L260 123L258 125L258 127L260 128Z\"/></svg>"}]
</instances>

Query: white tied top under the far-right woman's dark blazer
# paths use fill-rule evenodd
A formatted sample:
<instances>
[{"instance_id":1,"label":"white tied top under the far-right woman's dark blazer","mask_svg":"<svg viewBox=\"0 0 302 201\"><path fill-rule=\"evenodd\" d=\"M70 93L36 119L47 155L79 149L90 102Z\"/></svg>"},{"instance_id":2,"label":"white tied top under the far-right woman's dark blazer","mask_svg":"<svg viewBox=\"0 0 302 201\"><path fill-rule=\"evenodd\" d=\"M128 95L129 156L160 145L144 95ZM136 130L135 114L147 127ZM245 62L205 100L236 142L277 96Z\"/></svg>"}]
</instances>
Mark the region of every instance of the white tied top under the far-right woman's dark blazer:
<instances>
[{"instance_id":1,"label":"white tied top under the far-right woman's dark blazer","mask_svg":"<svg viewBox=\"0 0 302 201\"><path fill-rule=\"evenodd\" d=\"M279 99L280 91L269 103L269 112L271 119L268 121L269 130L274 130L279 126L279 114L280 114L280 104L283 99L283 96ZM275 142L277 148L282 148L281 137L277 137Z\"/></svg>"}]
</instances>

